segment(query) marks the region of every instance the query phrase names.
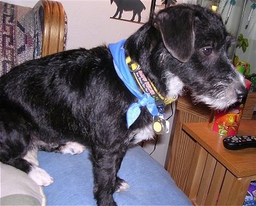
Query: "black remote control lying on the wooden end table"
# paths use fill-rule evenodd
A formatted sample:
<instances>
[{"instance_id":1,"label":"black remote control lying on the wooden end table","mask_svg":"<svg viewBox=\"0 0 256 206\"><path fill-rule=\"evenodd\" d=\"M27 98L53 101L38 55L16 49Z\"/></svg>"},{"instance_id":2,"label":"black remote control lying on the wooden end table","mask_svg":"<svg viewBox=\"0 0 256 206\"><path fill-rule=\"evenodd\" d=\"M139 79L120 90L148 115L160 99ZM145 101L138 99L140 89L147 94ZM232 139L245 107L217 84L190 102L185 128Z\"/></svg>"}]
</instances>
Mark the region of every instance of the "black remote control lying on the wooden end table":
<instances>
[{"instance_id":1,"label":"black remote control lying on the wooden end table","mask_svg":"<svg viewBox=\"0 0 256 206\"><path fill-rule=\"evenodd\" d=\"M223 145L228 150L241 150L256 147L256 136L235 135L223 139Z\"/></svg>"}]
</instances>

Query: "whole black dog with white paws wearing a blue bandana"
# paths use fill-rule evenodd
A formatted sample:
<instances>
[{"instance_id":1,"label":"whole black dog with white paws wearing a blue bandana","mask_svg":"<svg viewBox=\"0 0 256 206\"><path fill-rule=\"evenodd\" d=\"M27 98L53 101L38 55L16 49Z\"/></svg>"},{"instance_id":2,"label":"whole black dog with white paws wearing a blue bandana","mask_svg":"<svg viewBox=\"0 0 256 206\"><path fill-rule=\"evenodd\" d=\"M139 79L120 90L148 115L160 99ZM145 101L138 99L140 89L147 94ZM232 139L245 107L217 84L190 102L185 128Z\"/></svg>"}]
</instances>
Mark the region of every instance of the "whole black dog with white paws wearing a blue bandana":
<instances>
[{"instance_id":1,"label":"whole black dog with white paws wearing a blue bandana","mask_svg":"<svg viewBox=\"0 0 256 206\"><path fill-rule=\"evenodd\" d=\"M0 79L1 162L47 186L52 178L29 161L29 151L79 154L89 147L97 204L115 205L113 193L129 186L116 175L125 152L154 137L152 116L163 113L166 99L186 86L195 102L223 109L246 95L227 57L231 42L219 15L178 4L126 41L13 68ZM150 84L134 86L138 79Z\"/></svg>"}]
</instances>

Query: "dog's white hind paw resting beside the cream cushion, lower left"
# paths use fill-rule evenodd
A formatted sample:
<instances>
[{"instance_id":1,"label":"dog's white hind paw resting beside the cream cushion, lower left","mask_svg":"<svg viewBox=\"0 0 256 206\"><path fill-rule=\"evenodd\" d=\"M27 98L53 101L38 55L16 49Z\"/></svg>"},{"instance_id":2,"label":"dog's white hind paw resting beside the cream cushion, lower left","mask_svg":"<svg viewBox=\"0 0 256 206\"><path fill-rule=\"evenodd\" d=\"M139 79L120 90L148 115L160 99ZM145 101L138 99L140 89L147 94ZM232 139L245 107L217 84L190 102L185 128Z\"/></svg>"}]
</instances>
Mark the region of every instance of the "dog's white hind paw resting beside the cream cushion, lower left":
<instances>
[{"instance_id":1,"label":"dog's white hind paw resting beside the cream cushion, lower left","mask_svg":"<svg viewBox=\"0 0 256 206\"><path fill-rule=\"evenodd\" d=\"M37 166L33 166L28 176L34 180L38 186L49 186L54 182L53 178L45 170Z\"/></svg>"}]
</instances>

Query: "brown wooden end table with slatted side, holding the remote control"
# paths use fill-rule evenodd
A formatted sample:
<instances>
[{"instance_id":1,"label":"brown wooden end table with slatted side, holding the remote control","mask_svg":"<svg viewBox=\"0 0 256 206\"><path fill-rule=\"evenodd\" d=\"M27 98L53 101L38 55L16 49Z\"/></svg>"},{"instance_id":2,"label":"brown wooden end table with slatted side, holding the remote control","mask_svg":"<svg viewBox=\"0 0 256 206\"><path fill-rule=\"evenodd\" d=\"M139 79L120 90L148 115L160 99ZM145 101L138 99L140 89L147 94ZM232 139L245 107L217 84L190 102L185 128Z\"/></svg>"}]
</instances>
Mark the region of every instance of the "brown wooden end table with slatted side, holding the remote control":
<instances>
[{"instance_id":1,"label":"brown wooden end table with slatted side, holding the remote control","mask_svg":"<svg viewBox=\"0 0 256 206\"><path fill-rule=\"evenodd\" d=\"M196 141L184 192L195 205L243 205L250 182L256 180L256 148L227 150L225 136L210 131L207 124L182 126ZM256 135L256 120L243 120L239 134Z\"/></svg>"}]
</instances>

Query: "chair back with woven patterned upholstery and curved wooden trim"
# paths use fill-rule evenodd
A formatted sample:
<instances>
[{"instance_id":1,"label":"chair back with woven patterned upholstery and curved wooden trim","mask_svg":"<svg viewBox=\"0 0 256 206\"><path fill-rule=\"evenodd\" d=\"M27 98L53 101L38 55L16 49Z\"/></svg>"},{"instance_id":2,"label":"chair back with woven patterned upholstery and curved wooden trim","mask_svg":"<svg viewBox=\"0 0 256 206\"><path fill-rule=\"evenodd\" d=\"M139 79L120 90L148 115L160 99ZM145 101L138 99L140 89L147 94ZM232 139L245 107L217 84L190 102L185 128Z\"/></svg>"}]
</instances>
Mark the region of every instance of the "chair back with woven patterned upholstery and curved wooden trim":
<instances>
[{"instance_id":1,"label":"chair back with woven patterned upholstery and curved wooden trim","mask_svg":"<svg viewBox=\"0 0 256 206\"><path fill-rule=\"evenodd\" d=\"M11 68L65 49L67 17L58 1L33 8L0 1L0 75Z\"/></svg>"}]
</instances>

